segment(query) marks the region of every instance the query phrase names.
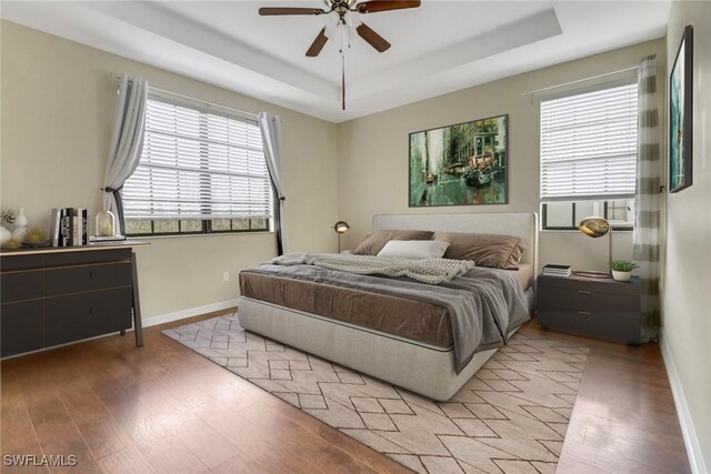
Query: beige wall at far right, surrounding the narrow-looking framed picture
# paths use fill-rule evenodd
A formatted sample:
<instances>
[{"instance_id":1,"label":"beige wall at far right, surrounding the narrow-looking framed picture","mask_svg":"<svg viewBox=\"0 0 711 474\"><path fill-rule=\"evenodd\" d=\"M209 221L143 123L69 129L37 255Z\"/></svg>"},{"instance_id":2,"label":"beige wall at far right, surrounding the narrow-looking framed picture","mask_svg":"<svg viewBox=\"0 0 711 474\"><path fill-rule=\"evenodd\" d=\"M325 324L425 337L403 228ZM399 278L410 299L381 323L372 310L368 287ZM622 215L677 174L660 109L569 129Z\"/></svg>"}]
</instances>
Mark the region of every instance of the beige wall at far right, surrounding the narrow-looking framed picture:
<instances>
[{"instance_id":1,"label":"beige wall at far right, surrounding the narrow-looking framed picture","mask_svg":"<svg viewBox=\"0 0 711 474\"><path fill-rule=\"evenodd\" d=\"M668 73L693 26L693 184L667 195L663 336L711 470L711 2L672 2ZM669 361L668 361L669 363ZM683 414L683 413L682 413ZM682 420L683 425L683 420ZM697 466L701 468L700 460Z\"/></svg>"}]
</instances>

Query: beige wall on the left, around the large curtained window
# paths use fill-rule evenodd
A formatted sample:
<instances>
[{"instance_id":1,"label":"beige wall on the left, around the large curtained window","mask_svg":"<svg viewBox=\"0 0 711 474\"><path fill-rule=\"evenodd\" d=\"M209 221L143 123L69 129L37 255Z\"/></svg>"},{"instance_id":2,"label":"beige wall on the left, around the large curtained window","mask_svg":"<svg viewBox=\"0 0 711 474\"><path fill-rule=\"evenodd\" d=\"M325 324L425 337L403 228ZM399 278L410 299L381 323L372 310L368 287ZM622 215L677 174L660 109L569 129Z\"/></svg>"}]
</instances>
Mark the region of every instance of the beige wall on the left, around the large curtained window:
<instances>
[{"instance_id":1,"label":"beige wall on the left, around the large curtained window","mask_svg":"<svg viewBox=\"0 0 711 474\"><path fill-rule=\"evenodd\" d=\"M1 23L1 205L48 228L53 206L100 209L116 110L107 73L283 120L283 174L292 249L336 250L336 125L93 48ZM318 212L313 212L318 209ZM93 224L91 224L93 228ZM139 250L147 317L239 295L237 272L276 255L274 235L153 239ZM223 271L231 281L222 282Z\"/></svg>"}]
</instances>

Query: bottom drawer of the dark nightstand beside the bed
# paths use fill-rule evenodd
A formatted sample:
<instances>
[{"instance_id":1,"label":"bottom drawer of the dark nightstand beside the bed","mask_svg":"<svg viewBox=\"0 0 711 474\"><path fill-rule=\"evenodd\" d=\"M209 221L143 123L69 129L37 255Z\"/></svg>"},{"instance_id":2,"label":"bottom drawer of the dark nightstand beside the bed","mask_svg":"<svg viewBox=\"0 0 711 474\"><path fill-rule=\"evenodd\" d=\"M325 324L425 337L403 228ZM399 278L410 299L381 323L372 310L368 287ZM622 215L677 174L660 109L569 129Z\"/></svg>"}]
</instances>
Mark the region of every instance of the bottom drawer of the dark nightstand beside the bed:
<instances>
[{"instance_id":1,"label":"bottom drawer of the dark nightstand beside the bed","mask_svg":"<svg viewBox=\"0 0 711 474\"><path fill-rule=\"evenodd\" d=\"M602 312L539 311L537 317L543 326L574 334L629 344L638 344L641 339L639 313L622 316Z\"/></svg>"}]
</instances>

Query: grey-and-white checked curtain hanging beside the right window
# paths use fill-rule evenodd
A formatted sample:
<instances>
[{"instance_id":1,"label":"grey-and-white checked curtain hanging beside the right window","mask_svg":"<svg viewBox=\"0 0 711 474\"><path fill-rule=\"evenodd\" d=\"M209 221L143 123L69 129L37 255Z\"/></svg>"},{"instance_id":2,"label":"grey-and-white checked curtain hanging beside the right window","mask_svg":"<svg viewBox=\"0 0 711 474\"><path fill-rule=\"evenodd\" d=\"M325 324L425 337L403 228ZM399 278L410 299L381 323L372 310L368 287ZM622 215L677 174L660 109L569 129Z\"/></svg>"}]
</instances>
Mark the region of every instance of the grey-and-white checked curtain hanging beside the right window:
<instances>
[{"instance_id":1,"label":"grey-and-white checked curtain hanging beside the right window","mask_svg":"<svg viewBox=\"0 0 711 474\"><path fill-rule=\"evenodd\" d=\"M642 285L642 341L659 332L659 253L661 159L657 108L657 56L642 59L639 81L637 194L634 196L634 260Z\"/></svg>"}]
</instances>

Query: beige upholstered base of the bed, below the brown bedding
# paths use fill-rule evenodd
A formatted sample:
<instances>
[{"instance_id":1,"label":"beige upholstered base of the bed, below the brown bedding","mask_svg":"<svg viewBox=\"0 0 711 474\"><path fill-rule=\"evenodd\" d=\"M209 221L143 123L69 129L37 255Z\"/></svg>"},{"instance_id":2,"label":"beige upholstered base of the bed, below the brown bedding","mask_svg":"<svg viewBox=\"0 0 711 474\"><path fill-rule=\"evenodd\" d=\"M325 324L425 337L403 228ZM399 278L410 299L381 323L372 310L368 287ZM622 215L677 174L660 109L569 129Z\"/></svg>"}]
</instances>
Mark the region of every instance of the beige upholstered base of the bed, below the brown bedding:
<instances>
[{"instance_id":1,"label":"beige upholstered base of the bed, below the brown bedding","mask_svg":"<svg viewBox=\"0 0 711 474\"><path fill-rule=\"evenodd\" d=\"M532 292L527 296L532 304ZM248 331L438 401L450 400L497 352L492 349L474 354L457 374L452 347L438 347L244 296L238 307L240 324Z\"/></svg>"}]
</instances>

